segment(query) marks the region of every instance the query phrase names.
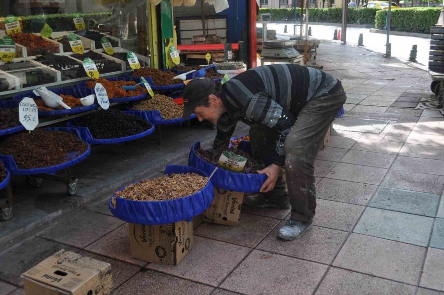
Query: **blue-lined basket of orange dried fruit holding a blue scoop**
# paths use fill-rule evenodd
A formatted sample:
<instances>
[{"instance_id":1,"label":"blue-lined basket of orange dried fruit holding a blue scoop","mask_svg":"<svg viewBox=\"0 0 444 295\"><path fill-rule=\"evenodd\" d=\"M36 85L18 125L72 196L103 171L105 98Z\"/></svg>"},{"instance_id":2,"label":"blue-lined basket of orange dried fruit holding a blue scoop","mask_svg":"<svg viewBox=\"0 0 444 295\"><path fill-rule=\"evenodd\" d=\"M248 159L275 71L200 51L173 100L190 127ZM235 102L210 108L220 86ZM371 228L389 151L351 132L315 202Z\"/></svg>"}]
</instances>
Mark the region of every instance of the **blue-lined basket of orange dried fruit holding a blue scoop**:
<instances>
[{"instance_id":1,"label":"blue-lined basket of orange dried fruit holding a blue scoop","mask_svg":"<svg viewBox=\"0 0 444 295\"><path fill-rule=\"evenodd\" d=\"M82 88L94 89L97 83L102 84L102 86L107 89L108 98L110 102L125 102L134 101L147 98L148 90L143 84L137 85L135 90L125 90L121 88L122 86L134 86L141 83L140 78L133 77L115 77L107 79L97 79L83 81L77 84L77 86Z\"/></svg>"}]
</instances>

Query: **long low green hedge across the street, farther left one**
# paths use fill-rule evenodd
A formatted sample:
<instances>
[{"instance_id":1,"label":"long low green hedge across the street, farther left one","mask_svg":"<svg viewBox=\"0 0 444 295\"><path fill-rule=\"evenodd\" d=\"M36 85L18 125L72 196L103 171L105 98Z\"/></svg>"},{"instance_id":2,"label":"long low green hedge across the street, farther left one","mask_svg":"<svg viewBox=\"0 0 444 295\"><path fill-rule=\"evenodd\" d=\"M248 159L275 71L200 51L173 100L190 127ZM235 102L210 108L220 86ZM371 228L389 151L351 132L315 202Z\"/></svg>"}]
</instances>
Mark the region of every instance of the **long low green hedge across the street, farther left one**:
<instances>
[{"instance_id":1,"label":"long low green hedge across the street, farther left one","mask_svg":"<svg viewBox=\"0 0 444 295\"><path fill-rule=\"evenodd\" d=\"M271 13L273 21L292 21L295 15L294 8L260 8L260 13ZM349 24L374 24L377 8L348 8ZM310 22L341 23L342 8L309 8ZM296 17L300 16L300 8L296 8Z\"/></svg>"}]
</instances>

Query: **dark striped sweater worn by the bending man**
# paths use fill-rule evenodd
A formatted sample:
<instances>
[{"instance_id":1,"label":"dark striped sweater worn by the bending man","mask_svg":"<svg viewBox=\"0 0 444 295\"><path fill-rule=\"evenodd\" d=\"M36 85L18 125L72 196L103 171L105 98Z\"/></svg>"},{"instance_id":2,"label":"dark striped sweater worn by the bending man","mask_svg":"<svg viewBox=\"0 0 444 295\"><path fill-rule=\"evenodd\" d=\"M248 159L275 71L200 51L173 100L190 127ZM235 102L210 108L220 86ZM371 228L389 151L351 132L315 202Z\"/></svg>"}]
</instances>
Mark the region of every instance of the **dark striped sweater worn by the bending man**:
<instances>
[{"instance_id":1,"label":"dark striped sweater worn by the bending man","mask_svg":"<svg viewBox=\"0 0 444 295\"><path fill-rule=\"evenodd\" d=\"M279 139L273 163L283 166L284 142L299 111L310 99L338 86L340 82L329 74L292 64L261 66L241 73L223 84L222 101L227 112L218 121L214 147L228 142L239 120L275 127Z\"/></svg>"}]
</instances>

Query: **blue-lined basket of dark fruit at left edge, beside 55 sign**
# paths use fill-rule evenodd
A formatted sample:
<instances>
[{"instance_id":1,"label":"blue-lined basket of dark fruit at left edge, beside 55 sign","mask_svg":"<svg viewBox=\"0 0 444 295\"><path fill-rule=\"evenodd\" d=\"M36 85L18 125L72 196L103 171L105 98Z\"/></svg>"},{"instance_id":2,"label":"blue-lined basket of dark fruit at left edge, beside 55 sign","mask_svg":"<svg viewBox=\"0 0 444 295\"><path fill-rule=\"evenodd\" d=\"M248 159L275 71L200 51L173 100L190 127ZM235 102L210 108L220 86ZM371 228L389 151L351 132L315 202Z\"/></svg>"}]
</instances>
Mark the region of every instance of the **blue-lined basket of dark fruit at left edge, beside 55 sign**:
<instances>
[{"instance_id":1,"label":"blue-lined basket of dark fruit at left edge, beside 55 sign","mask_svg":"<svg viewBox=\"0 0 444 295\"><path fill-rule=\"evenodd\" d=\"M18 101L0 100L0 136L25 130L18 116Z\"/></svg>"}]
</instances>

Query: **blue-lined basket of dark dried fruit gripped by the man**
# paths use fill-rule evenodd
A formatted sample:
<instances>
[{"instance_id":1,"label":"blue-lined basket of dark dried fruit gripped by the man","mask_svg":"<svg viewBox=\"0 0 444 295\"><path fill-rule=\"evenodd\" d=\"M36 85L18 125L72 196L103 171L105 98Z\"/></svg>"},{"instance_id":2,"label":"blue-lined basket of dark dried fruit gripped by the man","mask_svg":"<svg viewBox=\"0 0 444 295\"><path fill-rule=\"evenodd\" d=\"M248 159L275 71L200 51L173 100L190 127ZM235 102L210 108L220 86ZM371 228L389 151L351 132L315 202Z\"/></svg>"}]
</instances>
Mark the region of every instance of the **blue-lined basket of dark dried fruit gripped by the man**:
<instances>
[{"instance_id":1,"label":"blue-lined basket of dark dried fruit gripped by the man","mask_svg":"<svg viewBox=\"0 0 444 295\"><path fill-rule=\"evenodd\" d=\"M243 148L243 147L242 147ZM223 151L231 151L236 155L247 158L247 163L242 173L225 169L218 169L211 178L215 187L230 191L256 193L267 178L265 174L258 174L258 170L265 167L258 159L254 159L249 153L239 148L219 148L216 150L204 150L200 148L200 142L196 142L189 152L188 165L197 168L205 173L212 173L218 167L218 161Z\"/></svg>"}]
</instances>

